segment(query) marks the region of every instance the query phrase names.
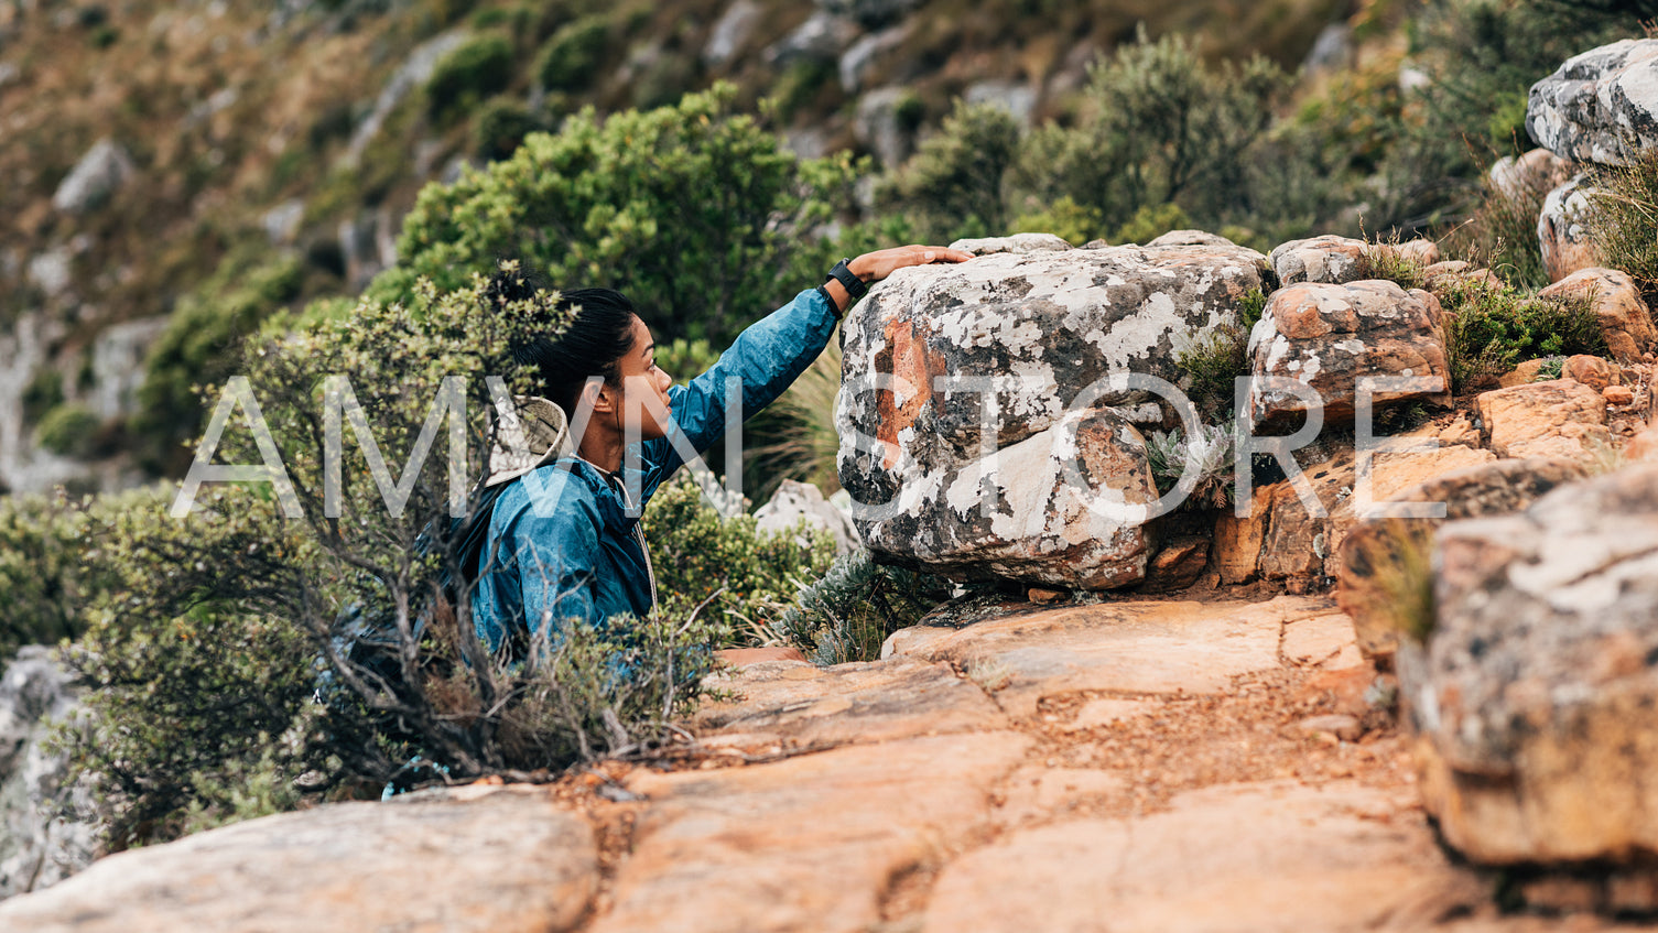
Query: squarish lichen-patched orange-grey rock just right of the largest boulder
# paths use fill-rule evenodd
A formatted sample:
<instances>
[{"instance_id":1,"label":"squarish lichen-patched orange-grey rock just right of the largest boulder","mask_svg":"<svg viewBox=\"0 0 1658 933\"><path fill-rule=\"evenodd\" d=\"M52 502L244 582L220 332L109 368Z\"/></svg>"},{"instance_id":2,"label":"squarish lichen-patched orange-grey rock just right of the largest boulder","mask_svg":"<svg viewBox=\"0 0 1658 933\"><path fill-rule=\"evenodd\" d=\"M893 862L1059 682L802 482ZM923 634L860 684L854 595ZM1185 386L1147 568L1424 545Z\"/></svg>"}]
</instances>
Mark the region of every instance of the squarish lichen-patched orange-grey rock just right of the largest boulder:
<instances>
[{"instance_id":1,"label":"squarish lichen-patched orange-grey rock just right of the largest boulder","mask_svg":"<svg viewBox=\"0 0 1658 933\"><path fill-rule=\"evenodd\" d=\"M1428 376L1439 391L1374 391L1376 409L1399 401L1449 404L1449 368L1439 333L1439 300L1393 282L1302 283L1267 302L1248 355L1252 376L1292 378L1323 399L1325 421L1351 421L1366 376ZM1288 389L1250 386L1255 426L1292 421L1307 403Z\"/></svg>"}]
</instances>

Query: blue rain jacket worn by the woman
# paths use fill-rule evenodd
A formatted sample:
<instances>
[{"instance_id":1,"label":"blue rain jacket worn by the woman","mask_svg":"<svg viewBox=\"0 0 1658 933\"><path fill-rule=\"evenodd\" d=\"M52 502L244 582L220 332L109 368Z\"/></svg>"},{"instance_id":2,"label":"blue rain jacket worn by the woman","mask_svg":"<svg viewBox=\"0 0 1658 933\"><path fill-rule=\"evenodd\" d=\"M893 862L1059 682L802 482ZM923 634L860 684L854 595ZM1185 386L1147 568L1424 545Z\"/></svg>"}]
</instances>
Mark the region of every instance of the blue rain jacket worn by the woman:
<instances>
[{"instance_id":1,"label":"blue rain jacket worn by the woman","mask_svg":"<svg viewBox=\"0 0 1658 933\"><path fill-rule=\"evenodd\" d=\"M743 419L771 404L811 366L834 333L834 312L816 288L751 325L711 370L673 386L670 433L701 452L725 434L726 379L743 381ZM650 558L628 515L627 471L638 469L643 502L685 462L668 437L627 451L622 472L607 476L579 457L514 479L496 499L479 555L473 618L479 638L499 648L577 618L600 623L618 613L650 613ZM557 645L557 630L547 633Z\"/></svg>"}]
</instances>

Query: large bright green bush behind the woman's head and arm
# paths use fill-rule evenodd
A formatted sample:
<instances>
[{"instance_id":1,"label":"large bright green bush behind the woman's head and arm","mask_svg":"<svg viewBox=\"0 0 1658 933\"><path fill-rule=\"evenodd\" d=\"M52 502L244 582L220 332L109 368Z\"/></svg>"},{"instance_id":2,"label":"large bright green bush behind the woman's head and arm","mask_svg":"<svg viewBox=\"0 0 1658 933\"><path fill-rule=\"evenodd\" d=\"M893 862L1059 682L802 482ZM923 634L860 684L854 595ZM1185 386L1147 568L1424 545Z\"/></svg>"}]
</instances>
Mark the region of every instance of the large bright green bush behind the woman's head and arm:
<instances>
[{"instance_id":1,"label":"large bright green bush behind the woman's head and arm","mask_svg":"<svg viewBox=\"0 0 1658 933\"><path fill-rule=\"evenodd\" d=\"M662 336L723 341L816 283L831 247L806 230L851 204L852 164L799 162L733 113L721 85L675 108L570 116L511 159L428 186L398 240L400 267L370 288L406 300L416 277L456 288L496 257L565 285L618 285Z\"/></svg>"}]
</instances>

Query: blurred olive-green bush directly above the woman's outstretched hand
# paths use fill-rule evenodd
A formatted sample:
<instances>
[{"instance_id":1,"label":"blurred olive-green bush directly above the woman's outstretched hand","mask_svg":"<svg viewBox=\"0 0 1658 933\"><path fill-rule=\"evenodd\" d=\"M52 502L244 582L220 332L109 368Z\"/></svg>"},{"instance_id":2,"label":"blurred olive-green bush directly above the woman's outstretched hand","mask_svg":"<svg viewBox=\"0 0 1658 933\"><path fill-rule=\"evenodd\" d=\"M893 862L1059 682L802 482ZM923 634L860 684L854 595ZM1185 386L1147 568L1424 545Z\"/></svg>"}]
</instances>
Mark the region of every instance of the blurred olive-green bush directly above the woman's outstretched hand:
<instances>
[{"instance_id":1,"label":"blurred olive-green bush directly above the woman's outstretched hand","mask_svg":"<svg viewBox=\"0 0 1658 933\"><path fill-rule=\"evenodd\" d=\"M902 212L928 242L1000 235L1008 227L1003 176L1020 149L1020 124L995 104L957 101L875 192L880 212Z\"/></svg>"}]
</instances>

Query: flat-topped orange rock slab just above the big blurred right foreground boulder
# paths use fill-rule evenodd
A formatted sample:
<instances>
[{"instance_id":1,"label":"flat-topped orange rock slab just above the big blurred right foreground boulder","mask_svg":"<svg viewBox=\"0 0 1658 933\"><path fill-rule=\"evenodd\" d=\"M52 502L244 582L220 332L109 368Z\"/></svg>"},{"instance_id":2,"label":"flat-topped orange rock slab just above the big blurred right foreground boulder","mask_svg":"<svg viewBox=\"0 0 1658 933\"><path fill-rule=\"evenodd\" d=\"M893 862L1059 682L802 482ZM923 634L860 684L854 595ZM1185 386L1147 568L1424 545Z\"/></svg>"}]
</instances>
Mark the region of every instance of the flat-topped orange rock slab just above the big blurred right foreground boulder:
<instances>
[{"instance_id":1,"label":"flat-topped orange rock slab just above the big blurred right foreground boulder","mask_svg":"<svg viewBox=\"0 0 1658 933\"><path fill-rule=\"evenodd\" d=\"M1575 379L1481 393L1474 399L1486 446L1504 457L1593 462L1612 449L1607 399Z\"/></svg>"}]
</instances>

